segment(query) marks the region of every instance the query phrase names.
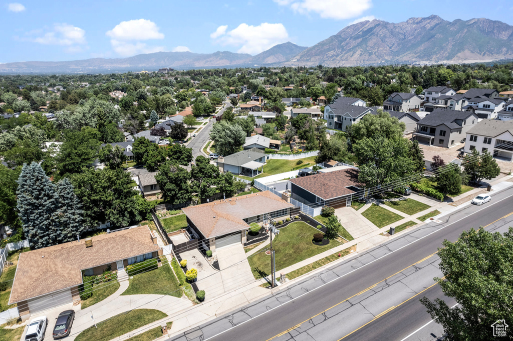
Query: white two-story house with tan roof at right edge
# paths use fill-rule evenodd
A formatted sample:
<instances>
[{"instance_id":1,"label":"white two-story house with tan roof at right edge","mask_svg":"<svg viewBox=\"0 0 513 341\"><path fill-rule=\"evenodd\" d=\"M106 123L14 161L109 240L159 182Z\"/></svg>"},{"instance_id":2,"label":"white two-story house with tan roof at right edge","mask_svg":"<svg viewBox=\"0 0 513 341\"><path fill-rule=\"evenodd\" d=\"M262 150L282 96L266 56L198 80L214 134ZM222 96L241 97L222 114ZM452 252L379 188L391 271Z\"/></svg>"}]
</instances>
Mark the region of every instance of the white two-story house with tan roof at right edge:
<instances>
[{"instance_id":1,"label":"white two-story house with tan roof at right edge","mask_svg":"<svg viewBox=\"0 0 513 341\"><path fill-rule=\"evenodd\" d=\"M488 151L494 158L513 160L513 120L484 119L467 131L465 153Z\"/></svg>"}]
</instances>

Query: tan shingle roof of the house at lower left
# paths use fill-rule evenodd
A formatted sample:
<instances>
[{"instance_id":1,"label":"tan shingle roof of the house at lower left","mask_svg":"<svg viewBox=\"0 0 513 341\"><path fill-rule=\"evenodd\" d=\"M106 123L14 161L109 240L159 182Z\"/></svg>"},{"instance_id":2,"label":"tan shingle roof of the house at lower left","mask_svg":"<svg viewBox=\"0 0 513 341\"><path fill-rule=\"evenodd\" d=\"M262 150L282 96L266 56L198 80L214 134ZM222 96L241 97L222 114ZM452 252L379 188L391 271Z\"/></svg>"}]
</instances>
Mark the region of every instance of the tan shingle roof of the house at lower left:
<instances>
[{"instance_id":1,"label":"tan shingle roof of the house at lower left","mask_svg":"<svg viewBox=\"0 0 513 341\"><path fill-rule=\"evenodd\" d=\"M9 304L82 284L81 270L160 249L147 225L95 236L92 243L86 248L85 240L74 241L20 254Z\"/></svg>"}]
</instances>

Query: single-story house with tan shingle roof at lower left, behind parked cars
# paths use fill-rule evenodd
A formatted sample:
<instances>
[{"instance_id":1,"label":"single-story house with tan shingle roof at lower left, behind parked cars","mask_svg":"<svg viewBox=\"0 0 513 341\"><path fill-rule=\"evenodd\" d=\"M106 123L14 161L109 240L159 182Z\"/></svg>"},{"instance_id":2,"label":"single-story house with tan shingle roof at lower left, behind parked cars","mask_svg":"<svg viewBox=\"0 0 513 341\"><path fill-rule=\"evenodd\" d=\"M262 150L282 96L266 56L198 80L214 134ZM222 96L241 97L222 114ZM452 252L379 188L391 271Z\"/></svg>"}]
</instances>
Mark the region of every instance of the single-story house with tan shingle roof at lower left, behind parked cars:
<instances>
[{"instance_id":1,"label":"single-story house with tan shingle roof at lower left, behind parked cars","mask_svg":"<svg viewBox=\"0 0 513 341\"><path fill-rule=\"evenodd\" d=\"M117 270L159 255L156 236L147 225L114 231L19 255L9 304L16 303L25 321L30 314L80 300L83 275Z\"/></svg>"}]
</instances>

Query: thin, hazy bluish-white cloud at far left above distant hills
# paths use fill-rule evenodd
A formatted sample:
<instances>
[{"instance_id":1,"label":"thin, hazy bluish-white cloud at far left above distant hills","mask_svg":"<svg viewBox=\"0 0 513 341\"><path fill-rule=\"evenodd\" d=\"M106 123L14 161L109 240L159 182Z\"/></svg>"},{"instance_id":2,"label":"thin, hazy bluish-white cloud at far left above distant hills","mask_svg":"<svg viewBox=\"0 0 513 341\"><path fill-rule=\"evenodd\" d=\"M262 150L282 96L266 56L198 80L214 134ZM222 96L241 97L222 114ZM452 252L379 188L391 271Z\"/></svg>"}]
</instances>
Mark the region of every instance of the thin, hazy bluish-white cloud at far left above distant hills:
<instances>
[{"instance_id":1,"label":"thin, hazy bluish-white cloud at far left above distant hills","mask_svg":"<svg viewBox=\"0 0 513 341\"><path fill-rule=\"evenodd\" d=\"M43 45L66 46L65 51L70 53L83 51L84 45L87 44L86 31L64 23L54 24L52 30L31 40Z\"/></svg>"}]
</instances>

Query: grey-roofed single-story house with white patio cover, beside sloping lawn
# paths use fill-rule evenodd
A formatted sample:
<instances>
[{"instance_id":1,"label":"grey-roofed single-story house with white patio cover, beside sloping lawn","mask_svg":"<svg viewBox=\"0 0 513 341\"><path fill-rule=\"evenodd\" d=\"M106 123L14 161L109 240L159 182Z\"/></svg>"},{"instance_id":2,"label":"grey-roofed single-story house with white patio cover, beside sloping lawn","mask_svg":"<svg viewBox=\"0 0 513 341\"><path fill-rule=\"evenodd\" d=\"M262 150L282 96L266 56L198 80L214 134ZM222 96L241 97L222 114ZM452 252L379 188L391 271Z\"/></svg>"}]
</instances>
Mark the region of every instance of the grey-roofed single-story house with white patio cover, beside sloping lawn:
<instances>
[{"instance_id":1,"label":"grey-roofed single-story house with white patio cover, beside sloping lawn","mask_svg":"<svg viewBox=\"0 0 513 341\"><path fill-rule=\"evenodd\" d=\"M267 154L258 148L251 148L219 158L217 162L218 166L222 167L225 173L230 172L232 174L254 177L263 172L266 161Z\"/></svg>"}]
</instances>

